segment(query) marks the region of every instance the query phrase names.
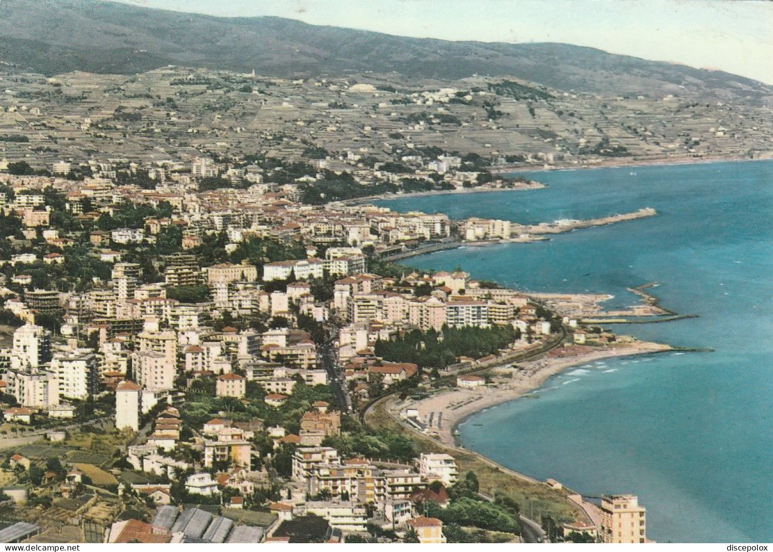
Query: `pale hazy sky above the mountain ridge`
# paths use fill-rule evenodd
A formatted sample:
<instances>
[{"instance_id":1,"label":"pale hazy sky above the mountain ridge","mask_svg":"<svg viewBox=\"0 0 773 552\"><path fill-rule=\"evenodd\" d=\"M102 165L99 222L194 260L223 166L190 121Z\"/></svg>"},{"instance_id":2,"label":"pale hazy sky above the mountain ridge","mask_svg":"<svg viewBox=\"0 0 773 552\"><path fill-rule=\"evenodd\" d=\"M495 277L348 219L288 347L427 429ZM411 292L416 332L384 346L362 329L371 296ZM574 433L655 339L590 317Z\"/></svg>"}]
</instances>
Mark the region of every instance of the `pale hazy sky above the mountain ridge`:
<instances>
[{"instance_id":1,"label":"pale hazy sky above the mountain ridge","mask_svg":"<svg viewBox=\"0 0 773 552\"><path fill-rule=\"evenodd\" d=\"M773 84L773 2L766 0L121 1L422 38L570 43Z\"/></svg>"}]
</instances>

